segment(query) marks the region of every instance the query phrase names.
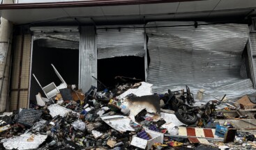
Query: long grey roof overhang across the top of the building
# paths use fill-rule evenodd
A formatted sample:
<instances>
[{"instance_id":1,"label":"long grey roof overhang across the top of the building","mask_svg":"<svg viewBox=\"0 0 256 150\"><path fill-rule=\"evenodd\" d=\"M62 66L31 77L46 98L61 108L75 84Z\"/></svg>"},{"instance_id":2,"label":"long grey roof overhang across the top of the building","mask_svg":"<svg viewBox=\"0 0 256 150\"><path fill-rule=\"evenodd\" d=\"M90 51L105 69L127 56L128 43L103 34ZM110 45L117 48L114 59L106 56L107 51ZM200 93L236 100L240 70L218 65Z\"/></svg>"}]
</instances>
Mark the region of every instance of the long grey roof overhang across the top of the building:
<instances>
[{"instance_id":1,"label":"long grey roof overhang across the top of the building","mask_svg":"<svg viewBox=\"0 0 256 150\"><path fill-rule=\"evenodd\" d=\"M255 0L92 0L1 4L0 15L14 24L145 24L165 20L241 20L256 15L255 8Z\"/></svg>"}]
</instances>

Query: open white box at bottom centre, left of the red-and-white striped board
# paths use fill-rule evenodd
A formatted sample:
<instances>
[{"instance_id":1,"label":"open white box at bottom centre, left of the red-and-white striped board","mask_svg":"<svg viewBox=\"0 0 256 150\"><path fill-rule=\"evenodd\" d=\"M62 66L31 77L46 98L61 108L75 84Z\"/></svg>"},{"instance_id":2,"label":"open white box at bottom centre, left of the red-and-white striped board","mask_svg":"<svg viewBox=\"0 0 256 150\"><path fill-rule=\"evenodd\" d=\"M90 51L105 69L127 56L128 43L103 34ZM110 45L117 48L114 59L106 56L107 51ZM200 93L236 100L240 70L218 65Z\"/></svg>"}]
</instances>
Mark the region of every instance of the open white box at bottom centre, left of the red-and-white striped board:
<instances>
[{"instance_id":1,"label":"open white box at bottom centre, left of the red-and-white striped board","mask_svg":"<svg viewBox=\"0 0 256 150\"><path fill-rule=\"evenodd\" d=\"M149 135L151 135L152 138L150 140L144 140L142 138L138 138L137 136L134 136L130 144L135 147L139 147L141 149L151 149L154 143L156 142L163 143L163 133L158 133L156 131L151 131L147 129L145 131L146 133L149 133Z\"/></svg>"}]
</instances>

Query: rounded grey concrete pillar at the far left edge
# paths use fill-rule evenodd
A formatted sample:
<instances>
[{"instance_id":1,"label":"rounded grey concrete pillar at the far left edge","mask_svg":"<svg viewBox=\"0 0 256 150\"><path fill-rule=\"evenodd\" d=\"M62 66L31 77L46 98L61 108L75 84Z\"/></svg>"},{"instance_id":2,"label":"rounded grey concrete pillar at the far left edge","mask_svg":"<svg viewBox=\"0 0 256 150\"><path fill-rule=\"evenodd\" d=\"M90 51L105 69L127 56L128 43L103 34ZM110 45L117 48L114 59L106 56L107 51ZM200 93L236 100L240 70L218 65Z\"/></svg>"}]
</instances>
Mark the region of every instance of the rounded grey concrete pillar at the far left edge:
<instances>
[{"instance_id":1,"label":"rounded grey concrete pillar at the far left edge","mask_svg":"<svg viewBox=\"0 0 256 150\"><path fill-rule=\"evenodd\" d=\"M3 3L13 3L13 0L3 0ZM10 51L13 35L13 24L1 17L0 25L0 112L6 110L8 99L8 83L10 69Z\"/></svg>"}]
</instances>

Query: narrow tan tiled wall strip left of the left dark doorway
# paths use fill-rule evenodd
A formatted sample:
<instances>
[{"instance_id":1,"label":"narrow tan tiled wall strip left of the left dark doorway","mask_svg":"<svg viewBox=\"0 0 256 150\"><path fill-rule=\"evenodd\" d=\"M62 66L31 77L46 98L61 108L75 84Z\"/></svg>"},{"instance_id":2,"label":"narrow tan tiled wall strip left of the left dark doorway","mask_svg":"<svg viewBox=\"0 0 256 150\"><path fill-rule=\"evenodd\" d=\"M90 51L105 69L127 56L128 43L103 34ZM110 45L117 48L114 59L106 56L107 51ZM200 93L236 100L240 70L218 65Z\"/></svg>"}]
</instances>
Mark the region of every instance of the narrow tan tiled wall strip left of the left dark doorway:
<instances>
[{"instance_id":1,"label":"narrow tan tiled wall strip left of the left dark doorway","mask_svg":"<svg viewBox=\"0 0 256 150\"><path fill-rule=\"evenodd\" d=\"M9 109L17 110L17 108L27 108L29 99L29 72L31 58L31 35L24 35L22 44L22 35L16 35L14 40L13 65L12 65L12 81L10 92ZM23 45L23 47L22 47ZM23 49L23 53L21 53ZM20 65L20 59L22 64ZM19 76L21 69L21 76ZM20 80L19 80L20 78ZM20 87L19 87L20 81Z\"/></svg>"}]
</instances>

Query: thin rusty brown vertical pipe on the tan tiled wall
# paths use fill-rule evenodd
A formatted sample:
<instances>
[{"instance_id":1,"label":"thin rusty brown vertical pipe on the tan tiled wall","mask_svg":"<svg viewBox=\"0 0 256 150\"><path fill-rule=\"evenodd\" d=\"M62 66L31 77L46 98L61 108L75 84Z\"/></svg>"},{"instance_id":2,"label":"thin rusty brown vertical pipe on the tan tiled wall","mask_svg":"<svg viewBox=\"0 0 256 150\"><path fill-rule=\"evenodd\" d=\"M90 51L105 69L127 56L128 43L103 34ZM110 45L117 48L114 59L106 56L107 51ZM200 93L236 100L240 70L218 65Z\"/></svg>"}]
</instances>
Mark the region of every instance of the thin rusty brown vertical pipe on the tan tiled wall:
<instances>
[{"instance_id":1,"label":"thin rusty brown vertical pipe on the tan tiled wall","mask_svg":"<svg viewBox=\"0 0 256 150\"><path fill-rule=\"evenodd\" d=\"M19 81L18 81L18 88L20 89L21 81L22 81L22 60L23 60L23 50L24 50L24 32L22 28L22 44L20 48L20 68L19 68ZM20 90L17 91L17 110L20 108Z\"/></svg>"}]
</instances>

